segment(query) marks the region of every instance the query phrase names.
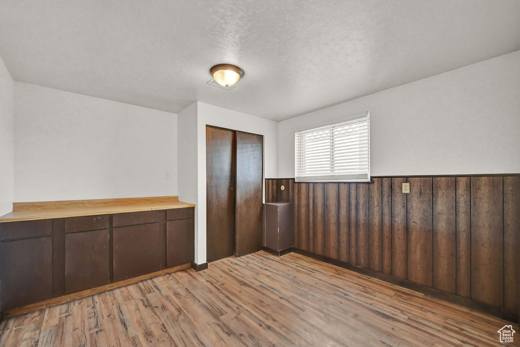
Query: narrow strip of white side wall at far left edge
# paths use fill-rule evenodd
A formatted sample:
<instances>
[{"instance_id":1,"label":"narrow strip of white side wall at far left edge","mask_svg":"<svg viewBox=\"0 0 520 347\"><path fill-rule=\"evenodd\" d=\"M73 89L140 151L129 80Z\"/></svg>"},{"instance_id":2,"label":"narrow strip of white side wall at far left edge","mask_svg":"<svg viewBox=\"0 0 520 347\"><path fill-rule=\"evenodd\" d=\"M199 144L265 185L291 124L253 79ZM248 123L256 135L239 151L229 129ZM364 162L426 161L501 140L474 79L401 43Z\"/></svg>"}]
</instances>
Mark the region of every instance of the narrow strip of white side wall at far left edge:
<instances>
[{"instance_id":1,"label":"narrow strip of white side wall at far left edge","mask_svg":"<svg viewBox=\"0 0 520 347\"><path fill-rule=\"evenodd\" d=\"M14 99L15 82L0 58L0 216L14 201Z\"/></svg>"}]
</instances>

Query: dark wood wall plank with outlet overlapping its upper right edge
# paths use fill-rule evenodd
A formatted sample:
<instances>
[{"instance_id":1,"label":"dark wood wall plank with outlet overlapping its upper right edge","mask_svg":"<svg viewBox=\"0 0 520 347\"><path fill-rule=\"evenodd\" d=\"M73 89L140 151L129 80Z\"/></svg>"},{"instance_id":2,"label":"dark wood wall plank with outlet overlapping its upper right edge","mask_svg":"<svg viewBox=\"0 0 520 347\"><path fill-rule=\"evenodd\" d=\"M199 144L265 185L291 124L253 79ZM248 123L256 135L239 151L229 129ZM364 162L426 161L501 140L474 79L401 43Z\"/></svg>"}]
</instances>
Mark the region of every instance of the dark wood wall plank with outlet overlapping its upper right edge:
<instances>
[{"instance_id":1,"label":"dark wood wall plank with outlet overlapping its upper right edge","mask_svg":"<svg viewBox=\"0 0 520 347\"><path fill-rule=\"evenodd\" d=\"M408 194L402 193L402 183L406 178L392 179L392 275L407 278L407 199Z\"/></svg>"}]
</instances>

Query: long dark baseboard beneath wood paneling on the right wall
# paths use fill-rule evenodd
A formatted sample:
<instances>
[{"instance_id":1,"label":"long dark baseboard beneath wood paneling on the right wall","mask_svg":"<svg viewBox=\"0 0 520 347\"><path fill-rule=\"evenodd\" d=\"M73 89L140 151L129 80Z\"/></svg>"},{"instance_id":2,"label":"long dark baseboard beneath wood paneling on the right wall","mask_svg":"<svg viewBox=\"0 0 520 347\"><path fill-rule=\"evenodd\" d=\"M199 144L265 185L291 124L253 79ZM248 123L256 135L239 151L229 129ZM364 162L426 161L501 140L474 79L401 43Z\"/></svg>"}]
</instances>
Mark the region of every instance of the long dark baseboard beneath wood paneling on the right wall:
<instances>
[{"instance_id":1,"label":"long dark baseboard beneath wood paneling on the right wall","mask_svg":"<svg viewBox=\"0 0 520 347\"><path fill-rule=\"evenodd\" d=\"M500 319L504 319L504 321L508 321L508 322L515 323L515 324L520 322L520 314L518 314L517 312L505 310L505 309L499 308L497 306L493 306L493 305L486 304L483 302L474 301L474 300L464 298L464 297L461 297L459 295L456 295L456 294L453 294L450 292L435 289L435 288L432 288L432 287L429 287L429 286L426 286L423 284L414 283L414 282L408 281L407 279L402 279L402 278L395 277L392 275L387 275L387 274L384 274L382 272L378 272L375 270L362 268L361 266L357 266L357 265L345 263L345 262L342 262L342 261L339 261L336 259L317 255L316 253L311 253L311 252L303 250L303 249L298 249L298 248L292 247L291 251L293 251L299 255L305 256L305 257L313 258L313 259L316 259L316 260L319 260L319 261L322 261L322 262L325 262L328 264L339 266L340 268L343 268L343 269L354 271L354 272L357 272L357 273L360 273L363 275L367 275L367 276L370 276L373 278L381 279L381 281L395 284L397 286L404 287L407 289L411 289L411 290L423 293L424 295L427 295L427 296L430 296L430 297L433 297L436 299L444 300L444 301L454 303L454 304L457 304L459 306L462 306L462 307L465 307L465 308L468 308L471 310L475 310L478 312L488 314L490 316L498 317Z\"/></svg>"}]
</instances>

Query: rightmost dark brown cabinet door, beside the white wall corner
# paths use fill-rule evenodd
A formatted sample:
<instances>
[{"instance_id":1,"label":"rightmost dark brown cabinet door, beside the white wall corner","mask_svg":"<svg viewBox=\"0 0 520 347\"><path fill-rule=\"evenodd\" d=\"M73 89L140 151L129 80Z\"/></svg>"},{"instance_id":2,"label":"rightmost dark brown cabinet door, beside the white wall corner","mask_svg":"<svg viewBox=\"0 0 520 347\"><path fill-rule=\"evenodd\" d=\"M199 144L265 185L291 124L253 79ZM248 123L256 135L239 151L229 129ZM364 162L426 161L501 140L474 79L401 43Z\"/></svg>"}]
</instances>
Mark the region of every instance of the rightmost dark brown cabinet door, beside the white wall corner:
<instances>
[{"instance_id":1,"label":"rightmost dark brown cabinet door, beside the white wall corner","mask_svg":"<svg viewBox=\"0 0 520 347\"><path fill-rule=\"evenodd\" d=\"M193 219L174 220L166 223L166 266L183 265L193 261Z\"/></svg>"}]
</instances>

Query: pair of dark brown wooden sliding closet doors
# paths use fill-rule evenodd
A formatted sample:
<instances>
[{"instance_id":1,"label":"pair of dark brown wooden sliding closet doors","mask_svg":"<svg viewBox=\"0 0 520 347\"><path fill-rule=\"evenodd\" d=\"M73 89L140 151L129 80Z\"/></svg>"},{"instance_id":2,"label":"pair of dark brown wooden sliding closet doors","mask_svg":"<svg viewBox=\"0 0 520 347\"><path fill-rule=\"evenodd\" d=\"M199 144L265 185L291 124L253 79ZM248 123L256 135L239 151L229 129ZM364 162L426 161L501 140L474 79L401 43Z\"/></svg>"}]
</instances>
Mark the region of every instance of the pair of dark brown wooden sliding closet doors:
<instances>
[{"instance_id":1,"label":"pair of dark brown wooden sliding closet doors","mask_svg":"<svg viewBox=\"0 0 520 347\"><path fill-rule=\"evenodd\" d=\"M261 249L261 135L206 127L207 261Z\"/></svg>"}]
</instances>

